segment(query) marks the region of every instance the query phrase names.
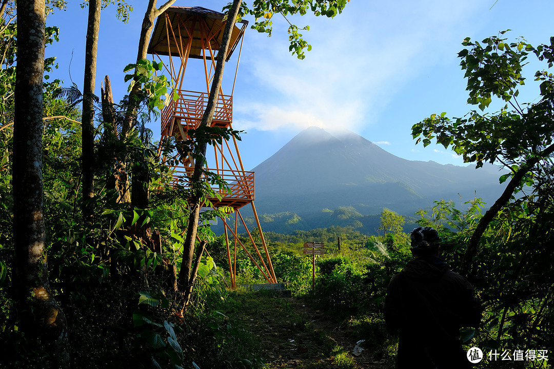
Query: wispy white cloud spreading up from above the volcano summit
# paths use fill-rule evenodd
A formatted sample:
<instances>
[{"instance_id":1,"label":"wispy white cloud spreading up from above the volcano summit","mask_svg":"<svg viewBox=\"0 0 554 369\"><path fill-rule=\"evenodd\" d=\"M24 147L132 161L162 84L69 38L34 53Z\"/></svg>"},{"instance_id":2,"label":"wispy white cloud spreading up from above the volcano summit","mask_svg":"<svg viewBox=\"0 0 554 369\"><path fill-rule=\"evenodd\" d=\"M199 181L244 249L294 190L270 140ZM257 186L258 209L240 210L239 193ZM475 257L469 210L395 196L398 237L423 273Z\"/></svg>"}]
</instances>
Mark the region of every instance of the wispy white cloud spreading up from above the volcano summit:
<instances>
[{"instance_id":1,"label":"wispy white cloud spreading up from above the volcano summit","mask_svg":"<svg viewBox=\"0 0 554 369\"><path fill-rule=\"evenodd\" d=\"M245 43L249 56L240 69L255 90L241 92L245 101L235 105L242 108L237 121L259 130L318 126L356 131L375 123L407 80L452 54L441 46L452 43L452 28L468 17L474 3L427 0L370 9L369 3L352 2L332 20L296 19L310 23L304 36L313 49L304 60L287 52L283 31L288 26L276 17L273 37L250 34ZM360 14L365 14L363 22Z\"/></svg>"}]
</instances>

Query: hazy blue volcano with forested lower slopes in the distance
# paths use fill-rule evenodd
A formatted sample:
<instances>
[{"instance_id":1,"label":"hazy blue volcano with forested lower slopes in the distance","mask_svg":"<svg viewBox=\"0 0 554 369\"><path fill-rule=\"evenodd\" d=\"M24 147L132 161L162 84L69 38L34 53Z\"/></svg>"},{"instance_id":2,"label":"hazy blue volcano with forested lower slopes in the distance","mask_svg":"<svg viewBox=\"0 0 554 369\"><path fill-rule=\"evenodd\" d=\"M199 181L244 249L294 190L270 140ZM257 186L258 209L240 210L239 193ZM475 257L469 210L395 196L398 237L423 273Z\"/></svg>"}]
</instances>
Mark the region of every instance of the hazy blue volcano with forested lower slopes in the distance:
<instances>
[{"instance_id":1,"label":"hazy blue volcano with forested lower slopes in the distance","mask_svg":"<svg viewBox=\"0 0 554 369\"><path fill-rule=\"evenodd\" d=\"M492 204L503 190L496 168L402 159L353 132L310 127L253 169L255 205L264 230L338 225L372 232L384 207L409 217L460 196Z\"/></svg>"}]
</instances>

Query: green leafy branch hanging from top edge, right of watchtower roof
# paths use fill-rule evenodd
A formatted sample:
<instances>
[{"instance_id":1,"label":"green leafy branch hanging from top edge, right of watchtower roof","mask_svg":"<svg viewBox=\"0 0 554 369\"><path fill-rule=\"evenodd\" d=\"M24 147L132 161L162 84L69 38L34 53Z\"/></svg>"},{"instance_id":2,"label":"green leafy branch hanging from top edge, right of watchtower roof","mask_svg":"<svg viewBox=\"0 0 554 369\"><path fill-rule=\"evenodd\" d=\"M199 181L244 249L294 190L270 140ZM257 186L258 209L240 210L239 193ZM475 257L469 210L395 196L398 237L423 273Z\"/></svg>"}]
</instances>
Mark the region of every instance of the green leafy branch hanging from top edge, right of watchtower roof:
<instances>
[{"instance_id":1,"label":"green leafy branch hanging from top edge, right of watchtower roof","mask_svg":"<svg viewBox=\"0 0 554 369\"><path fill-rule=\"evenodd\" d=\"M333 18L342 12L347 2L350 2L350 0L254 0L252 8L248 8L245 2L241 4L237 20L240 20L245 15L254 15L255 23L252 25L252 29L260 33L267 33L268 37L270 37L273 31L273 16L281 14L286 22L289 23L289 51L293 55L296 55L298 59L304 59L304 49L310 51L311 45L304 40L299 30L307 31L310 30L310 27L306 25L299 28L291 23L287 17L289 15L305 15L307 12L312 12L316 17L325 15L328 18ZM223 11L228 11L231 6L232 3L229 3L223 8Z\"/></svg>"}]
</instances>

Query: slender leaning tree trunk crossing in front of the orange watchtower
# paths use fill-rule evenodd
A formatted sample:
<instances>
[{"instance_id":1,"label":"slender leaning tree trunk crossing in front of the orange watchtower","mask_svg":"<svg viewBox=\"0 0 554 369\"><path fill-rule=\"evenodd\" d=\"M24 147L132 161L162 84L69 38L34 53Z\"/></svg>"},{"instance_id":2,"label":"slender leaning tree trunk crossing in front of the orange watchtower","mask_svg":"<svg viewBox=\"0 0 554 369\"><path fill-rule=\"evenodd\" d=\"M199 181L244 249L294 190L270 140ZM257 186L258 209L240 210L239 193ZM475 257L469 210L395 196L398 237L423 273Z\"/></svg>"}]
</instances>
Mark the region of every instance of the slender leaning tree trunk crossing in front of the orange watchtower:
<instances>
[{"instance_id":1,"label":"slender leaning tree trunk crossing in front of the orange watchtower","mask_svg":"<svg viewBox=\"0 0 554 369\"><path fill-rule=\"evenodd\" d=\"M233 26L237 20L240 3L242 3L242 0L234 0L233 6L227 14L227 23L225 24L223 38L217 54L217 65L213 76L212 87L210 89L206 111L204 111L204 115L202 116L202 121L200 123L200 125L203 127L209 127L212 124L213 113L216 110L216 102L219 96L221 81L223 79L223 68L225 66L225 56L227 55L227 49L229 47L231 30L233 29ZM206 147L206 141L198 142L197 154L199 154L202 158L206 157ZM196 232L198 229L198 217L200 214L200 207L202 205L201 181L203 180L202 171L204 169L204 165L205 160L201 159L197 160L196 165L194 166L194 173L192 175L193 194L189 202L189 209L191 211L191 214L188 217L187 237L184 241L181 270L179 271L179 279L177 280L179 290L185 293L185 301L189 300L189 296L187 294L189 293L189 291L192 290L191 286L189 286L189 282L191 280L192 274L191 266L194 254L194 242L196 241Z\"/></svg>"}]
</instances>

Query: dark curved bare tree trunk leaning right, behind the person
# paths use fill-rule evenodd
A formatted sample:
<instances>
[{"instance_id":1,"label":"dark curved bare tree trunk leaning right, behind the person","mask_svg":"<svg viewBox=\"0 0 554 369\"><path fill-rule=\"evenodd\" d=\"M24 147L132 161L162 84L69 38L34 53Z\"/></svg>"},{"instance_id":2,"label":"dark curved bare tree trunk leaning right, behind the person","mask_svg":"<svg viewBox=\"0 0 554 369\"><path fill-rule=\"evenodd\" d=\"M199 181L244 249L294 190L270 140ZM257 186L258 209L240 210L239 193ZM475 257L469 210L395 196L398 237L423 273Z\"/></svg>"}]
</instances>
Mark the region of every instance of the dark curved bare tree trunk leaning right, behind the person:
<instances>
[{"instance_id":1,"label":"dark curved bare tree trunk leaning right, behind the person","mask_svg":"<svg viewBox=\"0 0 554 369\"><path fill-rule=\"evenodd\" d=\"M473 231L473 234L471 234L471 237L469 238L468 248L466 248L464 257L461 260L459 271L461 275L468 277L473 259L479 252L478 247L481 236L483 236L483 233L489 226L490 222L493 221L496 214L498 214L502 207L506 205L508 201L510 201L511 196L514 194L517 186L520 185L521 180L524 178L525 174L533 169L533 167L535 167L538 162L540 162L544 158L548 158L552 153L554 153L554 144L542 150L542 152L538 155L532 156L524 165L521 165L519 170L517 170L514 176L512 176L510 182L506 185L506 188L504 189L502 195L500 195L500 198L498 198L493 206L491 206L489 210L485 212L483 217L481 217L479 223L475 227L475 231Z\"/></svg>"}]
</instances>

